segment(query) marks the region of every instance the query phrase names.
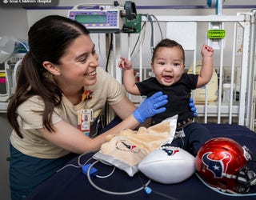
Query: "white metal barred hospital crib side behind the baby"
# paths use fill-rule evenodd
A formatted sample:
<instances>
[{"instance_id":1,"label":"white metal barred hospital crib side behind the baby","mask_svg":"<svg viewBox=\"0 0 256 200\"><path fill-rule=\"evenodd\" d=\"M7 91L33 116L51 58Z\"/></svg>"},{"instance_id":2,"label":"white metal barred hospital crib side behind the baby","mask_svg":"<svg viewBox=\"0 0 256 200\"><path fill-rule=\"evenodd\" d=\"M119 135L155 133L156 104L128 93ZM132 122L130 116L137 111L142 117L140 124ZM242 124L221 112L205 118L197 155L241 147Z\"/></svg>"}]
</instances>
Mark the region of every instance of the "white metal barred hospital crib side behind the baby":
<instances>
[{"instance_id":1,"label":"white metal barred hospital crib side behind the baby","mask_svg":"<svg viewBox=\"0 0 256 200\"><path fill-rule=\"evenodd\" d=\"M130 58L137 67L135 76L139 80L149 77L153 46L161 38L171 38L180 42L185 49L186 70L192 69L196 73L198 61L202 60L201 46L205 42L214 46L216 77L213 78L217 78L214 80L216 88L213 90L211 83L208 83L204 88L197 89L201 93L197 90L192 93L198 109L199 117L196 120L205 123L234 123L254 130L255 13L256 10L235 16L151 15L151 20L149 16L142 16L142 31L139 34L113 35L113 54L108 71L122 83L122 70L118 69L117 63L120 56L124 56ZM106 46L109 45L107 37ZM223 101L226 86L228 102ZM210 97L213 93L216 94L215 99ZM143 98L128 96L134 103L143 101Z\"/></svg>"}]
</instances>

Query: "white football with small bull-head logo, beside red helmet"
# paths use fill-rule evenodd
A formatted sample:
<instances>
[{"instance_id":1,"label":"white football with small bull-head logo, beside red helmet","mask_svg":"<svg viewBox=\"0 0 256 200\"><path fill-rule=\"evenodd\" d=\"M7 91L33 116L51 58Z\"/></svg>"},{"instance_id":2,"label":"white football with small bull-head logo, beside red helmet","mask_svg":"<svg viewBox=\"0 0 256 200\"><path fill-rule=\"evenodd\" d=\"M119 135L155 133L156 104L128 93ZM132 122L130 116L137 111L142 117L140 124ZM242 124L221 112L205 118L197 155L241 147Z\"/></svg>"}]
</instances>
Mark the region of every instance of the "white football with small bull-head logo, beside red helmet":
<instances>
[{"instance_id":1,"label":"white football with small bull-head logo, beside red helmet","mask_svg":"<svg viewBox=\"0 0 256 200\"><path fill-rule=\"evenodd\" d=\"M194 174L195 158L181 148L162 146L147 154L138 164L138 170L155 182L178 183Z\"/></svg>"}]
</instances>

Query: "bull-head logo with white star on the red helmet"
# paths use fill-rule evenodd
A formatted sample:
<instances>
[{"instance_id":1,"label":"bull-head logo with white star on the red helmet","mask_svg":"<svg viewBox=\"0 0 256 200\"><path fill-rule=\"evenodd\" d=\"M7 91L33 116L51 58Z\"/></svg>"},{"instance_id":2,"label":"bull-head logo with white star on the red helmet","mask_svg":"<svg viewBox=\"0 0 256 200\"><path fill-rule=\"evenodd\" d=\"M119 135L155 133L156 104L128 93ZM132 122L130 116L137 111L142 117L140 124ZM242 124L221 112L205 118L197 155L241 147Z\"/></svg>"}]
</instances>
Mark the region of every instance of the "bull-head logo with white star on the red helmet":
<instances>
[{"instance_id":1,"label":"bull-head logo with white star on the red helmet","mask_svg":"<svg viewBox=\"0 0 256 200\"><path fill-rule=\"evenodd\" d=\"M202 162L207 166L207 170L210 170L214 174L214 178L222 178L222 173L226 173L229 162L231 161L231 155L227 152L222 152L223 157L214 160L209 157L212 152L207 152L202 155Z\"/></svg>"}]
</instances>

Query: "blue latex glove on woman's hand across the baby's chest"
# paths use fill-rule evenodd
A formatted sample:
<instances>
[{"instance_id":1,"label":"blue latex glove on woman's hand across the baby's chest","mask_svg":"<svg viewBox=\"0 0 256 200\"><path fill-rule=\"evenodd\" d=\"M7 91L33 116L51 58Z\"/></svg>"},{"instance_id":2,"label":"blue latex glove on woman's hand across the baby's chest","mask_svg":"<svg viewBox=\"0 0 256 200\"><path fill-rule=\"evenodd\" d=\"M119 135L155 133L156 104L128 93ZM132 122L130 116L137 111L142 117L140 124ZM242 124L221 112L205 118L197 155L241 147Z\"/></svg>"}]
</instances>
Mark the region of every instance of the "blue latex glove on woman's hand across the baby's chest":
<instances>
[{"instance_id":1,"label":"blue latex glove on woman's hand across the baby's chest","mask_svg":"<svg viewBox=\"0 0 256 200\"><path fill-rule=\"evenodd\" d=\"M138 109L134 110L134 118L140 123L146 121L147 118L151 118L155 114L166 111L166 107L163 107L168 102L167 95L162 92L153 94L150 98L146 98Z\"/></svg>"}]
</instances>

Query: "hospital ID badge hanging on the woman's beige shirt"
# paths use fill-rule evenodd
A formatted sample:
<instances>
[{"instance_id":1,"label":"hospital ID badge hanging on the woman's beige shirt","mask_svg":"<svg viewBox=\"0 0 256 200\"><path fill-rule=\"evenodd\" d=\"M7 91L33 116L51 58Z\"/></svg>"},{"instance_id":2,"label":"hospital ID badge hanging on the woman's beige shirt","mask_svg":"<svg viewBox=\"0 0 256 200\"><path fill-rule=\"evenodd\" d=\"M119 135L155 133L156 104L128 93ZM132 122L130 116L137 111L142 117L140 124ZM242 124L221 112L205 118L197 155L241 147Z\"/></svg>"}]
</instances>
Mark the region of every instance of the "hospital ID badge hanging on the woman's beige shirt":
<instances>
[{"instance_id":1,"label":"hospital ID badge hanging on the woman's beige shirt","mask_svg":"<svg viewBox=\"0 0 256 200\"><path fill-rule=\"evenodd\" d=\"M94 122L92 109L82 109L78 111L78 129L90 136L90 123Z\"/></svg>"}]
</instances>

